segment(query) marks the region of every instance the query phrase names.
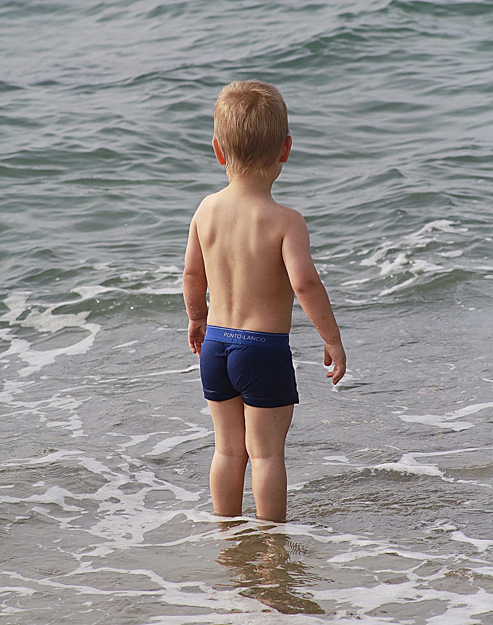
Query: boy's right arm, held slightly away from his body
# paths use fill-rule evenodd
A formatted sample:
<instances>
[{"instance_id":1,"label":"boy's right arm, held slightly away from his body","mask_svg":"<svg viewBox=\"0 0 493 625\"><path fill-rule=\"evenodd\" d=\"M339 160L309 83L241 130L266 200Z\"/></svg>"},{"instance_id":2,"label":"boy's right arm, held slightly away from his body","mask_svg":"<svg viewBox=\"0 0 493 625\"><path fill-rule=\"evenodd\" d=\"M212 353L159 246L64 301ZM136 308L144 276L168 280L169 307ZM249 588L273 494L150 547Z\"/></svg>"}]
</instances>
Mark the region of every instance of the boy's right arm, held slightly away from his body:
<instances>
[{"instance_id":1,"label":"boy's right arm, held slightly away from his body","mask_svg":"<svg viewBox=\"0 0 493 625\"><path fill-rule=\"evenodd\" d=\"M346 354L327 291L313 264L307 224L298 212L293 213L283 237L283 261L298 301L325 341L324 363L327 366L334 363L327 377L337 384L346 371Z\"/></svg>"}]
</instances>

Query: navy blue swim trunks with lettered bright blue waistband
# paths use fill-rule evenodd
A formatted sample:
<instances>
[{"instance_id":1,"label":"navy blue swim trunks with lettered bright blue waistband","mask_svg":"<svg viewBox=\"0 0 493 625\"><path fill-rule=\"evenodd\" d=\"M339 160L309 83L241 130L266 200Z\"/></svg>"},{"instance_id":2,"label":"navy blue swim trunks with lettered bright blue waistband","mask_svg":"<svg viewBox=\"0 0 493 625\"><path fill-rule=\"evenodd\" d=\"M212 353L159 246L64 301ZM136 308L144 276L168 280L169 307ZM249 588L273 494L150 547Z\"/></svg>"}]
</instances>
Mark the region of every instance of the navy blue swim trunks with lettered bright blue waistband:
<instances>
[{"instance_id":1,"label":"navy blue swim trunks with lettered bright blue waistband","mask_svg":"<svg viewBox=\"0 0 493 625\"><path fill-rule=\"evenodd\" d=\"M211 401L241 395L245 404L259 408L300 402L289 334L207 326L200 376Z\"/></svg>"}]
</instances>

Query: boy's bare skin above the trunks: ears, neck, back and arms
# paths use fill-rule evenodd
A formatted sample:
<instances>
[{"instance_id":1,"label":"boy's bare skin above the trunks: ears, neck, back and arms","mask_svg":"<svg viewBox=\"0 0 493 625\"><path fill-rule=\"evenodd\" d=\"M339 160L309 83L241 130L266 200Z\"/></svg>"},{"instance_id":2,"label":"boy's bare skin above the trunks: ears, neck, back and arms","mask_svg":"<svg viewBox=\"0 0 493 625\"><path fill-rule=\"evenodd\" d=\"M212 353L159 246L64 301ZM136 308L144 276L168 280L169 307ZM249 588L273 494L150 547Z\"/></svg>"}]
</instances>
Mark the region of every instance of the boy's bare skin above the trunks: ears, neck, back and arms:
<instances>
[{"instance_id":1,"label":"boy's bare skin above the trunks: ears, neck, back and arms","mask_svg":"<svg viewBox=\"0 0 493 625\"><path fill-rule=\"evenodd\" d=\"M207 323L289 332L296 294L325 342L325 364L334 363L327 377L337 384L345 372L345 354L310 254L307 226L298 211L278 204L271 195L291 144L288 136L267 176L229 173L230 184L206 197L193 216L183 273L190 348L200 353ZM224 165L216 139L213 148Z\"/></svg>"}]
</instances>

